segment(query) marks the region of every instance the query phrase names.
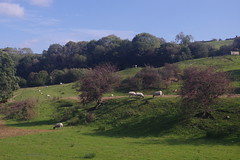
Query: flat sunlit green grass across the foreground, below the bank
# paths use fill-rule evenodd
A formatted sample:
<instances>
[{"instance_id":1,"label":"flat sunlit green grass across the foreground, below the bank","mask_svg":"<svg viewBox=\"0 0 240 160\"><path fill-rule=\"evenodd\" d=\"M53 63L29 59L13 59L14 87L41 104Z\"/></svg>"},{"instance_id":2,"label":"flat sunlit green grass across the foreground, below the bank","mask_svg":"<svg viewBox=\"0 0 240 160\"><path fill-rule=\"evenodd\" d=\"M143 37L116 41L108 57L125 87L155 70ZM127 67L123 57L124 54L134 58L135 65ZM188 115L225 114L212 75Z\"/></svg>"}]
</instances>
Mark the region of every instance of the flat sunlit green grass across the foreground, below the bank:
<instances>
[{"instance_id":1,"label":"flat sunlit green grass across the foreground, below the bank","mask_svg":"<svg viewBox=\"0 0 240 160\"><path fill-rule=\"evenodd\" d=\"M75 160L94 153L96 160L215 160L239 159L239 145L232 141L189 139L178 136L109 137L94 128L73 127L59 131L0 139L2 160Z\"/></svg>"}]
</instances>

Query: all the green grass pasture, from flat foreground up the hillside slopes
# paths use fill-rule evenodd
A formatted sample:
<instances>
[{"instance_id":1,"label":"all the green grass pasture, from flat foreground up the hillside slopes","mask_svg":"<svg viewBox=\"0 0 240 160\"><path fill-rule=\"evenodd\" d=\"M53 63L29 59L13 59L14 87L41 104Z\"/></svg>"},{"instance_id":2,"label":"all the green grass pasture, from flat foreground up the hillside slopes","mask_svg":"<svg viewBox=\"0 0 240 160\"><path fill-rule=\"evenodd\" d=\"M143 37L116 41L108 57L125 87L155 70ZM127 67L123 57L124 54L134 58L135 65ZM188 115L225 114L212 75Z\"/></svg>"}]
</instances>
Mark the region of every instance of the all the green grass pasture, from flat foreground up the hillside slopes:
<instances>
[{"instance_id":1,"label":"all the green grass pasture, from flat foreground up the hillside slopes","mask_svg":"<svg viewBox=\"0 0 240 160\"><path fill-rule=\"evenodd\" d=\"M237 56L198 59L179 64L181 68L214 64L224 71L234 71L234 83L239 85L240 58ZM128 69L121 71L120 75L127 78L139 70ZM182 121L182 116L178 114L180 101L176 97L112 99L106 101L100 109L92 111L96 116L95 122L52 130L56 107L79 105L73 98L79 95L73 85L24 88L14 93L9 103L28 98L39 100L37 117L31 121L7 120L7 125L48 132L0 139L1 160L240 159L239 98L222 98L214 106L218 109L213 113L214 120L193 118L189 121ZM179 84L174 85L173 88ZM226 116L231 119L224 119ZM228 136L221 132L224 127L230 132ZM219 137L208 137L209 133Z\"/></svg>"}]
</instances>

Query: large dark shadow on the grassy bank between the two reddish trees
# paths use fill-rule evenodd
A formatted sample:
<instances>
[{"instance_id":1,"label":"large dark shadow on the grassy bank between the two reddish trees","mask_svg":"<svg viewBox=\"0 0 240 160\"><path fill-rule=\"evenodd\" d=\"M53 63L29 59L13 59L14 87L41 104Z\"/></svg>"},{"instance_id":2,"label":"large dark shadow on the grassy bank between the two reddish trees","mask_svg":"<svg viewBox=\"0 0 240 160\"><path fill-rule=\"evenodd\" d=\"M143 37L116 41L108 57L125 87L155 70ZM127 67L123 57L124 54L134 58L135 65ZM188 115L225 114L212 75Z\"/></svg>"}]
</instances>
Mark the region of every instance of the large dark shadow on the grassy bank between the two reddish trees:
<instances>
[{"instance_id":1,"label":"large dark shadow on the grassy bank between the two reddish trees","mask_svg":"<svg viewBox=\"0 0 240 160\"><path fill-rule=\"evenodd\" d=\"M181 116L162 114L161 116L133 119L130 122L117 124L109 130L95 130L92 135L109 137L159 137L169 134L181 121Z\"/></svg>"}]
</instances>

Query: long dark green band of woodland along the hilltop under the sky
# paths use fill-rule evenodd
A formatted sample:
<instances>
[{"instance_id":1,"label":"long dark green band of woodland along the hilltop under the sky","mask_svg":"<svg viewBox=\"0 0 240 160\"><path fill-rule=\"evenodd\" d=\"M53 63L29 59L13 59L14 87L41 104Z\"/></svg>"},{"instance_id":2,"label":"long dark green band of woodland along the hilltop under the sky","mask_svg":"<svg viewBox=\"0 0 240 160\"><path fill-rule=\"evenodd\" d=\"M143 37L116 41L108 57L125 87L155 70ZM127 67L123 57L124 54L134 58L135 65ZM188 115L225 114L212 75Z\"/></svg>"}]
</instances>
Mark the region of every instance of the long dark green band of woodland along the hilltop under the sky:
<instances>
[{"instance_id":1,"label":"long dark green band of woodland along the hilltop under the sky","mask_svg":"<svg viewBox=\"0 0 240 160\"><path fill-rule=\"evenodd\" d=\"M13 59L19 85L27 87L73 82L84 73L82 68L104 63L114 64L120 70L134 65L161 67L165 63L226 55L239 48L240 37L232 45L216 49L204 42L194 42L191 35L181 32L174 42L140 33L131 41L109 35L99 40L51 44L42 54L33 54L30 48L4 48L1 52Z\"/></svg>"}]
</instances>

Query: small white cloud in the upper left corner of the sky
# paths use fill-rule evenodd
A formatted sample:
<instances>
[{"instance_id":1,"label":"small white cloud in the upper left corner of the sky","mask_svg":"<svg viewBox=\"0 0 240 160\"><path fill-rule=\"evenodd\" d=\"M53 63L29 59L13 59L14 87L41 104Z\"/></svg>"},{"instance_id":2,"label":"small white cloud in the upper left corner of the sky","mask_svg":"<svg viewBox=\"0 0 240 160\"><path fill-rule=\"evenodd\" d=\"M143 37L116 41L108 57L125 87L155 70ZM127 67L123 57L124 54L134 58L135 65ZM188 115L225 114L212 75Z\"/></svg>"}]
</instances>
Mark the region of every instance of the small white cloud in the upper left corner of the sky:
<instances>
[{"instance_id":1,"label":"small white cloud in the upper left corner of the sky","mask_svg":"<svg viewBox=\"0 0 240 160\"><path fill-rule=\"evenodd\" d=\"M23 17L24 8L19 4L0 2L0 15L11 17Z\"/></svg>"}]
</instances>

